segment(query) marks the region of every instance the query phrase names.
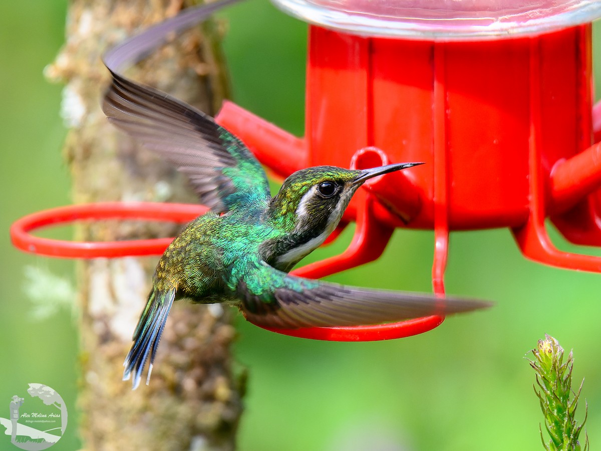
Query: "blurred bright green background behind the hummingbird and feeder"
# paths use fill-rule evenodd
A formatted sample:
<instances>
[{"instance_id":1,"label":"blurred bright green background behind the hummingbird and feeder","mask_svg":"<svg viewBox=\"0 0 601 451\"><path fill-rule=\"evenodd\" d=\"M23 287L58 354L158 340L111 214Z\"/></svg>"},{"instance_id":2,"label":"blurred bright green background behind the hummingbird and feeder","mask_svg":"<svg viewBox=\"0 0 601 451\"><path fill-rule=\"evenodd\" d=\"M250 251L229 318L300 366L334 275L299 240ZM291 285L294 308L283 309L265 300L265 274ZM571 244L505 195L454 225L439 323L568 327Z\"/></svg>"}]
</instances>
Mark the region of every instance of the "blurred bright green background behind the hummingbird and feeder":
<instances>
[{"instance_id":1,"label":"blurred bright green background behind the hummingbird and feeder","mask_svg":"<svg viewBox=\"0 0 601 451\"><path fill-rule=\"evenodd\" d=\"M27 213L70 202L61 87L42 74L63 43L66 4L0 2L0 416L29 382L55 388L69 408L56 451L80 446L77 331L67 308L32 318L24 274L34 266L73 281L73 263L14 250L8 227ZM267 0L235 5L221 17L229 22L224 45L234 100L302 134L307 26ZM347 232L312 259L340 252L349 239ZM398 231L382 259L331 279L430 291L432 254L432 233ZM586 378L588 435L599 446L601 275L528 262L508 230L490 230L451 236L446 281L449 293L493 299L496 307L379 343L294 339L238 321L236 358L250 370L239 449L542 449L534 373L524 357L545 333L575 351L576 383Z\"/></svg>"}]
</instances>

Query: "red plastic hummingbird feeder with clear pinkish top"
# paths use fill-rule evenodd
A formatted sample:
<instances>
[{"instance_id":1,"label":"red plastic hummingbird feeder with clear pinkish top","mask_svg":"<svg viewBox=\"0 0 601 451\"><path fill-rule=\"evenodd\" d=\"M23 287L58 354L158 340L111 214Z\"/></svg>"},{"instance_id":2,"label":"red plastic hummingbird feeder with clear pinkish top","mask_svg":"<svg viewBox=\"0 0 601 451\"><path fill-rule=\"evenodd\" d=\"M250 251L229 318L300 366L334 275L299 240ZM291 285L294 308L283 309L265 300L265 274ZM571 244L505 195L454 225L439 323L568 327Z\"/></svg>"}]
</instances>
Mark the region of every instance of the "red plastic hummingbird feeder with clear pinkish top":
<instances>
[{"instance_id":1,"label":"red plastic hummingbird feeder with clear pinkish top","mask_svg":"<svg viewBox=\"0 0 601 451\"><path fill-rule=\"evenodd\" d=\"M510 227L530 259L601 272L601 258L557 250L545 229L549 217L569 241L601 245L601 144L592 146L601 106L591 92L601 2L274 1L311 23L306 135L231 102L216 120L281 177L312 165L427 163L365 183L337 230L357 222L350 247L296 274L323 277L377 259L396 227L435 231L441 295L451 230ZM442 319L276 331L379 340Z\"/></svg>"}]
</instances>

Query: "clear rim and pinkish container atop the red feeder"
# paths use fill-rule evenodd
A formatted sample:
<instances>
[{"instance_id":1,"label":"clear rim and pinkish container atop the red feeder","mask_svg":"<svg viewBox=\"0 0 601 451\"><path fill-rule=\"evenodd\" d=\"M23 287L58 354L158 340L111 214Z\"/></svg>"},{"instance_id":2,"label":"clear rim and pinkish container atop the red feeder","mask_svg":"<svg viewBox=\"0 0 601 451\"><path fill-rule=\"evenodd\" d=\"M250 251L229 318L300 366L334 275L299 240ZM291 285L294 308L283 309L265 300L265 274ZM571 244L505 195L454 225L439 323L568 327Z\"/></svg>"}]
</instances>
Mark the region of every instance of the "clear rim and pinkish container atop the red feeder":
<instances>
[{"instance_id":1,"label":"clear rim and pinkish container atop the red feeder","mask_svg":"<svg viewBox=\"0 0 601 451\"><path fill-rule=\"evenodd\" d=\"M372 37L470 41L526 37L590 23L598 0L272 0L305 22ZM492 5L495 3L498 5ZM486 5L485 10L477 10Z\"/></svg>"}]
</instances>

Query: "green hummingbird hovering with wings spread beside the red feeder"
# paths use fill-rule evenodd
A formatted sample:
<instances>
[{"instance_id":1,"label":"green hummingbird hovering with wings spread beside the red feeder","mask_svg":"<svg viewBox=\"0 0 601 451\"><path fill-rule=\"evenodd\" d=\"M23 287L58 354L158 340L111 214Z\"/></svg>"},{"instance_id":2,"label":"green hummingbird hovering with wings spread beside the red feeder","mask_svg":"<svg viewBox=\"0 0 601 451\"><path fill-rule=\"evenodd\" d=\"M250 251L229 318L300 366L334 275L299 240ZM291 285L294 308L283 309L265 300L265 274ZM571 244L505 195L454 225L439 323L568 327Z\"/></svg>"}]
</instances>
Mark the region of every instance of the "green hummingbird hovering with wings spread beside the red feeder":
<instances>
[{"instance_id":1,"label":"green hummingbird hovering with wings spread beside the red feeder","mask_svg":"<svg viewBox=\"0 0 601 451\"><path fill-rule=\"evenodd\" d=\"M187 174L209 211L160 257L133 333L123 379L138 387L174 301L235 305L276 328L368 325L487 307L481 301L343 286L288 272L335 229L355 191L372 177L422 163L366 170L296 171L270 195L250 150L200 110L111 71L103 111L115 126Z\"/></svg>"}]
</instances>

